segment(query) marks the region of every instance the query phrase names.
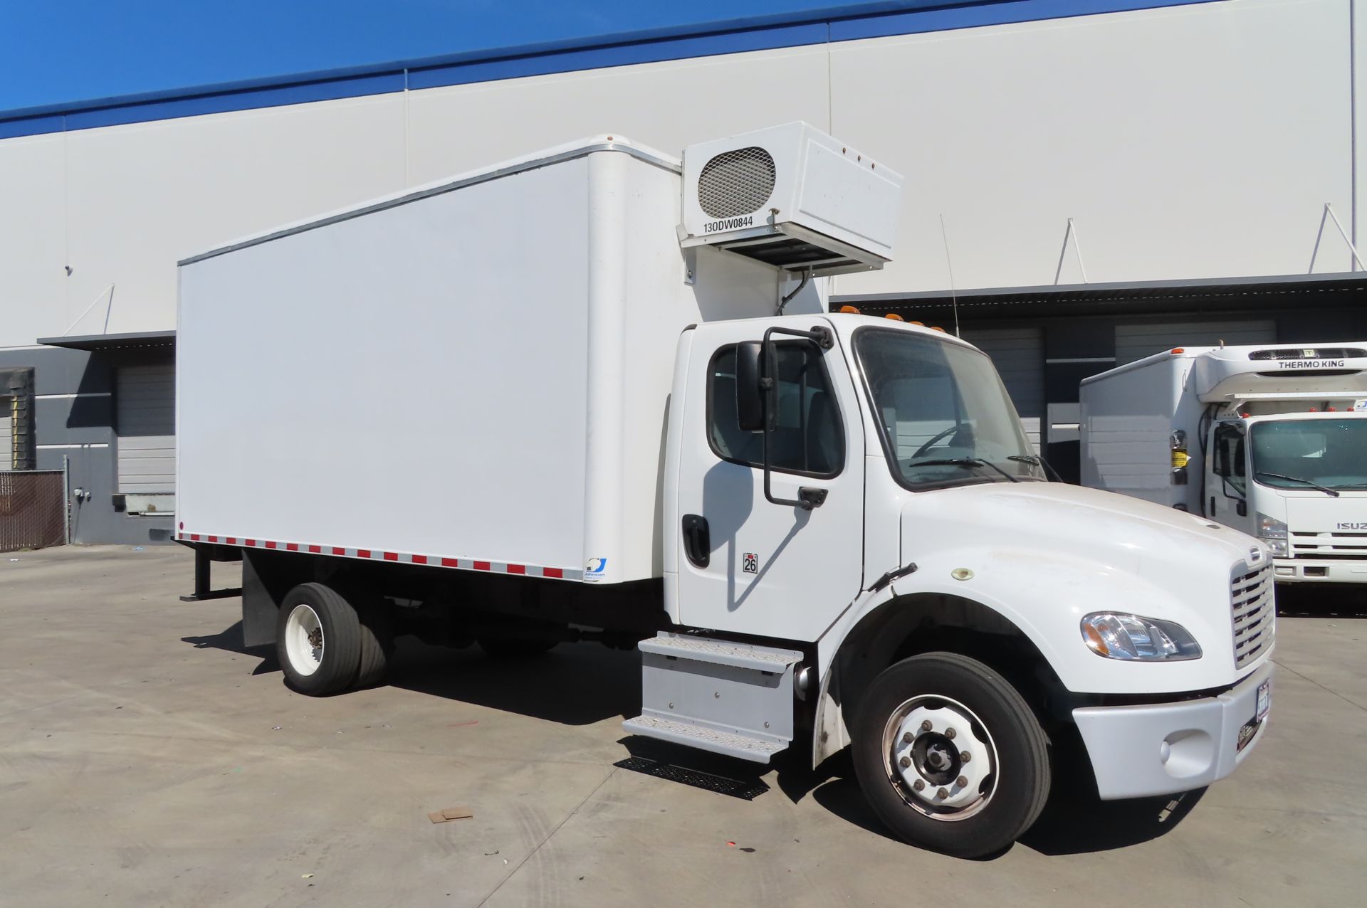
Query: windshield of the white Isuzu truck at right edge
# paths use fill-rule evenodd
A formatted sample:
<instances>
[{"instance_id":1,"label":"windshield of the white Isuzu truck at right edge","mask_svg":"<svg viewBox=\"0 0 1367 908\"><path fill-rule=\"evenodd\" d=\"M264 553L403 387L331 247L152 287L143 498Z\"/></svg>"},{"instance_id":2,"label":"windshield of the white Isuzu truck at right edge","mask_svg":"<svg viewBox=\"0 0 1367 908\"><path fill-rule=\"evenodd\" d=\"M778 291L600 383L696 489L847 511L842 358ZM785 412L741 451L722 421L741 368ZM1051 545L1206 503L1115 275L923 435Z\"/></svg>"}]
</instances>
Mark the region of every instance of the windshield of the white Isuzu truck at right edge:
<instances>
[{"instance_id":1,"label":"windshield of the white Isuzu truck at right edge","mask_svg":"<svg viewBox=\"0 0 1367 908\"><path fill-rule=\"evenodd\" d=\"M1252 426L1252 472L1264 486L1367 489L1367 419L1270 421ZM1278 475L1270 475L1278 474Z\"/></svg>"}]
</instances>

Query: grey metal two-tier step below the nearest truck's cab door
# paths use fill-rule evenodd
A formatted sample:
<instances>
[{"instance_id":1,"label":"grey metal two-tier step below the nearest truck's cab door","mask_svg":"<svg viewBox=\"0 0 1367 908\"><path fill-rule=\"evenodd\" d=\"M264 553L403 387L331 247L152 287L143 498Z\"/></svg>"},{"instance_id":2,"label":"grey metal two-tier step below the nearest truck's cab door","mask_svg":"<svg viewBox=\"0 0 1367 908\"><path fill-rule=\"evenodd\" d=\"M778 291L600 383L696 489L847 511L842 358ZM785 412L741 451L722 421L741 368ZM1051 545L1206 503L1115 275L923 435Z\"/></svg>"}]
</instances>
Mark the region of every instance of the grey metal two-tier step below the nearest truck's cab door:
<instances>
[{"instance_id":1,"label":"grey metal two-tier step below the nearest truck's cab door","mask_svg":"<svg viewBox=\"0 0 1367 908\"><path fill-rule=\"evenodd\" d=\"M793 741L793 675L802 654L684 634L641 640L633 735L756 763Z\"/></svg>"}]
</instances>

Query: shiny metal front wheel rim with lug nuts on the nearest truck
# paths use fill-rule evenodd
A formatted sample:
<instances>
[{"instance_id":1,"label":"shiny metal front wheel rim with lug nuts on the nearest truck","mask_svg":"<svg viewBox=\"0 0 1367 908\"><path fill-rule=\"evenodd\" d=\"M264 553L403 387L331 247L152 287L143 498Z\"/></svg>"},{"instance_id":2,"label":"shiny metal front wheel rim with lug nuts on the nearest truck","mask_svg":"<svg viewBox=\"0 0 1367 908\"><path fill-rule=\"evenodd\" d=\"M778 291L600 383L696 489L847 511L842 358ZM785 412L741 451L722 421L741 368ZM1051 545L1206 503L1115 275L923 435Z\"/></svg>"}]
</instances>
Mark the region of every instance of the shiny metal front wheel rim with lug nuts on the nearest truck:
<instances>
[{"instance_id":1,"label":"shiny metal front wheel rim with lug nuts on the nearest truck","mask_svg":"<svg viewBox=\"0 0 1367 908\"><path fill-rule=\"evenodd\" d=\"M909 720L921 715L935 717L927 720L932 724L928 732L921 730L919 724L908 725ZM936 718L939 718L939 722L936 722ZM930 750L925 747L917 750L919 744L924 744L923 739L928 739L930 736L945 739L946 725L953 725L957 730L949 740L956 741L956 747L961 748L958 752L968 752L971 759L968 762L956 759L945 769L962 773L968 781L965 786L958 786L954 781L935 784L932 781L935 774L927 776L923 771L925 767L915 759L916 754ZM908 735L910 735L912 741L906 740ZM936 740L935 743L939 744L940 741ZM947 696L928 694L913 696L893 710L887 718L887 724L883 726L882 754L883 770L887 773L887 781L893 786L893 791L898 793L902 803L923 817L940 822L968 819L982 812L991 803L992 795L997 792L1001 763L997 755L997 744L992 741L987 725L977 718L973 710ZM902 765L904 756L910 759L910 766ZM971 773L964 771L975 762L977 766ZM957 778L960 777L956 777L956 781ZM916 780L923 781L924 786L916 789L913 786ZM942 789L949 792L949 797L943 800L953 801L953 804L945 804L936 796Z\"/></svg>"}]
</instances>

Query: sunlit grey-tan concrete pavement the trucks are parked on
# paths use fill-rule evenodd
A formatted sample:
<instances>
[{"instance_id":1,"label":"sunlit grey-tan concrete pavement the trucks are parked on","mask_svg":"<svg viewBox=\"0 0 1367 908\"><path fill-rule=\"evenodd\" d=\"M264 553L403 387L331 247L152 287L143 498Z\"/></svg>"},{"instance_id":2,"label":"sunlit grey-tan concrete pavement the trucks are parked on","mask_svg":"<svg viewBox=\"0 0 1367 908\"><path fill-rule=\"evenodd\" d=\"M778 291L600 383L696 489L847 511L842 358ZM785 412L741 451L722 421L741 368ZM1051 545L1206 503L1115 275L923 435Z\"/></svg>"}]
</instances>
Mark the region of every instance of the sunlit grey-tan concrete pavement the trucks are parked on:
<instances>
[{"instance_id":1,"label":"sunlit grey-tan concrete pavement the trucks are parked on","mask_svg":"<svg viewBox=\"0 0 1367 908\"><path fill-rule=\"evenodd\" d=\"M215 568L227 584L235 565ZM0 904L1363 898L1367 609L1323 597L1281 619L1271 724L1232 778L1170 812L1064 797L965 862L889 838L839 761L645 751L760 777L753 801L615 769L641 747L619 726L634 653L504 664L414 643L390 685L312 699L243 651L238 599L179 602L190 579L178 546L0 556ZM474 817L429 822L455 806Z\"/></svg>"}]
</instances>

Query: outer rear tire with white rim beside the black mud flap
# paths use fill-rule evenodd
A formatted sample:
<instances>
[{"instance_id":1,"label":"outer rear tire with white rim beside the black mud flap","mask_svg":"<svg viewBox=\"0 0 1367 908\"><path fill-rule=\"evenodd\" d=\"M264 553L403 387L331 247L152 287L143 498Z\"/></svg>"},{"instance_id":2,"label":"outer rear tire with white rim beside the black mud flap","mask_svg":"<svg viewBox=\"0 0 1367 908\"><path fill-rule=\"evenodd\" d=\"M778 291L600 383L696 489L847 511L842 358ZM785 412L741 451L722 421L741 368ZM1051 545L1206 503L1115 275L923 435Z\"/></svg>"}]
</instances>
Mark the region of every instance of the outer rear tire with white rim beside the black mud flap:
<instances>
[{"instance_id":1,"label":"outer rear tire with white rim beside the black mud flap","mask_svg":"<svg viewBox=\"0 0 1367 908\"><path fill-rule=\"evenodd\" d=\"M275 653L291 688L328 696L355 683L364 638L355 608L336 590L301 583L280 606Z\"/></svg>"}]
</instances>

